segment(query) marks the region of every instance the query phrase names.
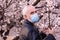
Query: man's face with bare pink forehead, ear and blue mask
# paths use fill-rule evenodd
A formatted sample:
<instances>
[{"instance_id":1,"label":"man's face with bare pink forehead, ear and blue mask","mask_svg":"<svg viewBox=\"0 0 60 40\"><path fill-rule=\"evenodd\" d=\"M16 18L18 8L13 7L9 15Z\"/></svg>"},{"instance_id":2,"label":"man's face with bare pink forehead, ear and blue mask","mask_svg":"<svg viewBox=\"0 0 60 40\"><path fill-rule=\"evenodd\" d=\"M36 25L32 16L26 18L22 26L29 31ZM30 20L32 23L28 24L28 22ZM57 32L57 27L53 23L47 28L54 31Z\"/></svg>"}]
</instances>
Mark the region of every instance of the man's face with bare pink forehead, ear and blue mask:
<instances>
[{"instance_id":1,"label":"man's face with bare pink forehead, ear and blue mask","mask_svg":"<svg viewBox=\"0 0 60 40\"><path fill-rule=\"evenodd\" d=\"M36 9L33 6L28 6L26 9L25 9L26 14L23 15L23 17L29 20L30 22L37 22L39 20L39 16L36 13Z\"/></svg>"}]
</instances>

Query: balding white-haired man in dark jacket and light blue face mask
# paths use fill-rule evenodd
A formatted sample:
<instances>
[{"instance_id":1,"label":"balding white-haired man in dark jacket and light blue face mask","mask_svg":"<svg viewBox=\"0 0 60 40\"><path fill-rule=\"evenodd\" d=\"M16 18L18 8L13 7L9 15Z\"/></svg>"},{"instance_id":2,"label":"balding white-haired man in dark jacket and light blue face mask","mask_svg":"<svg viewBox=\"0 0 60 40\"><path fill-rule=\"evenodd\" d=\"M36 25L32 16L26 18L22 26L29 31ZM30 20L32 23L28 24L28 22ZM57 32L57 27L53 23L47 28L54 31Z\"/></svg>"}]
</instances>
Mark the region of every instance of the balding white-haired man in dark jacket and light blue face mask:
<instances>
[{"instance_id":1,"label":"balding white-haired man in dark jacket and light blue face mask","mask_svg":"<svg viewBox=\"0 0 60 40\"><path fill-rule=\"evenodd\" d=\"M49 34L46 36L44 33L39 33L34 23L40 20L39 15L36 13L34 6L25 6L22 10L23 18L25 19L20 40L55 40L53 31L49 29Z\"/></svg>"}]
</instances>

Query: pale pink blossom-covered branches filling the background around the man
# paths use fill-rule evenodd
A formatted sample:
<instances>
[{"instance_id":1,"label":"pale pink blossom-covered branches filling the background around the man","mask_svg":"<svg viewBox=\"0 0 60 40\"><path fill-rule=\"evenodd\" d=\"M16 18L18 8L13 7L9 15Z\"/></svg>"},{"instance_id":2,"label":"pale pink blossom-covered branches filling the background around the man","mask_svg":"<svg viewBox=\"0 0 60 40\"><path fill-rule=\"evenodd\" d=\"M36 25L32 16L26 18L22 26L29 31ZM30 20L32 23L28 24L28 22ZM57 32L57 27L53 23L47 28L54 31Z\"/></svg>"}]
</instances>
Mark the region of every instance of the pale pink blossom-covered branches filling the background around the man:
<instances>
[{"instance_id":1,"label":"pale pink blossom-covered branches filling the background around the man","mask_svg":"<svg viewBox=\"0 0 60 40\"><path fill-rule=\"evenodd\" d=\"M18 39L24 20L21 11L26 5L32 5L35 1L0 0L0 40ZM37 13L43 15L35 25L39 30L51 26L56 31L56 40L60 40L60 0L40 0L35 7Z\"/></svg>"}]
</instances>

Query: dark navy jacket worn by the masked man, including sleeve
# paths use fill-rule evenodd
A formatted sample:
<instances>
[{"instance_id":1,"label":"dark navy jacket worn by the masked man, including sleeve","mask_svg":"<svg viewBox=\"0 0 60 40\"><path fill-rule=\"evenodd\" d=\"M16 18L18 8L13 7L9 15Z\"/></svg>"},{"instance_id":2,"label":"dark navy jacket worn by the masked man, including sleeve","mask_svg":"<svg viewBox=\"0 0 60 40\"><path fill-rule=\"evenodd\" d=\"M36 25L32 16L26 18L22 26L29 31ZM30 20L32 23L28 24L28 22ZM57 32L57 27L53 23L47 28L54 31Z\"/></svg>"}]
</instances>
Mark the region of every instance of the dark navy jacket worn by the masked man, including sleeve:
<instances>
[{"instance_id":1,"label":"dark navy jacket worn by the masked man, including sleeve","mask_svg":"<svg viewBox=\"0 0 60 40\"><path fill-rule=\"evenodd\" d=\"M46 36L43 32L39 33L33 23L25 20L20 40L55 40L55 38L52 34Z\"/></svg>"}]
</instances>

